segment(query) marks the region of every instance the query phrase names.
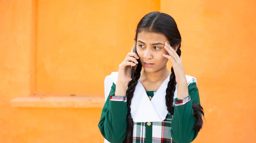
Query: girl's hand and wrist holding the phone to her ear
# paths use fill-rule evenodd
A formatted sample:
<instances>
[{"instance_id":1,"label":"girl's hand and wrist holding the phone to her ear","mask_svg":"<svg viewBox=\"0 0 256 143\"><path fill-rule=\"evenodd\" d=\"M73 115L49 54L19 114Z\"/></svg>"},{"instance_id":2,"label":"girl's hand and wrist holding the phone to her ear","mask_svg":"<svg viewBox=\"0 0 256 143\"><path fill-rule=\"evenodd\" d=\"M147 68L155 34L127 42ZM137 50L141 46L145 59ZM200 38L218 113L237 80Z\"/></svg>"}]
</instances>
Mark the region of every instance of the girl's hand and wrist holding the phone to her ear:
<instances>
[{"instance_id":1,"label":"girl's hand and wrist holding the phone to her ear","mask_svg":"<svg viewBox=\"0 0 256 143\"><path fill-rule=\"evenodd\" d=\"M119 84L127 84L132 80L131 74L132 74L132 68L131 66L135 66L135 70L137 68L137 64L139 63L137 59L139 59L139 56L134 53L135 46L133 45L131 53L128 53L125 59L121 64L119 64L118 69L118 77L117 77L117 83ZM134 62L134 63L133 63Z\"/></svg>"}]
</instances>

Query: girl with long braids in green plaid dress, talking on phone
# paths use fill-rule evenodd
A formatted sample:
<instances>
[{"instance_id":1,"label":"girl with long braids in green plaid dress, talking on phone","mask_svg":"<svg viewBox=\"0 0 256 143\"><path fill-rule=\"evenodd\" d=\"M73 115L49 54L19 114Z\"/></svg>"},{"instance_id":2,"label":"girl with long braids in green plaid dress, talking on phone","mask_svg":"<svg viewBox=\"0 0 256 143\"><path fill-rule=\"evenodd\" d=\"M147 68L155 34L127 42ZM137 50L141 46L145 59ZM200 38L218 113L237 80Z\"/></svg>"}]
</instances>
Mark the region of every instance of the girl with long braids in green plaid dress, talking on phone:
<instances>
[{"instance_id":1,"label":"girl with long braids in green plaid dress, talking on phone","mask_svg":"<svg viewBox=\"0 0 256 143\"><path fill-rule=\"evenodd\" d=\"M204 113L196 78L183 70L176 22L165 13L148 13L137 26L135 41L137 53L133 46L118 72L105 78L101 134L111 143L192 142ZM133 79L131 66L136 68Z\"/></svg>"}]
</instances>

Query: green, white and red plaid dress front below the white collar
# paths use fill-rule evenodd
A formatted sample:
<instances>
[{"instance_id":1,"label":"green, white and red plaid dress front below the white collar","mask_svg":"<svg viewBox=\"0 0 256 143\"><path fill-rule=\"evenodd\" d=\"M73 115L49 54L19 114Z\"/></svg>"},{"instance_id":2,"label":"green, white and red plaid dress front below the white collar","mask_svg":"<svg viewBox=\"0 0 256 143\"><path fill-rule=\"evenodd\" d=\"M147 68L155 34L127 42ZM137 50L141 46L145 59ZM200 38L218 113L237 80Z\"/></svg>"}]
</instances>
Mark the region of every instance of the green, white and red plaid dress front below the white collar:
<instances>
[{"instance_id":1,"label":"green, white and red plaid dress front below the white collar","mask_svg":"<svg viewBox=\"0 0 256 143\"><path fill-rule=\"evenodd\" d=\"M147 122L134 123L133 127L133 142L134 143L174 143L171 137L171 122L173 116L168 113L166 118L162 122L151 122L151 127L147 125ZM154 132L152 132L154 131ZM152 133L151 138L147 137L147 132Z\"/></svg>"}]
</instances>

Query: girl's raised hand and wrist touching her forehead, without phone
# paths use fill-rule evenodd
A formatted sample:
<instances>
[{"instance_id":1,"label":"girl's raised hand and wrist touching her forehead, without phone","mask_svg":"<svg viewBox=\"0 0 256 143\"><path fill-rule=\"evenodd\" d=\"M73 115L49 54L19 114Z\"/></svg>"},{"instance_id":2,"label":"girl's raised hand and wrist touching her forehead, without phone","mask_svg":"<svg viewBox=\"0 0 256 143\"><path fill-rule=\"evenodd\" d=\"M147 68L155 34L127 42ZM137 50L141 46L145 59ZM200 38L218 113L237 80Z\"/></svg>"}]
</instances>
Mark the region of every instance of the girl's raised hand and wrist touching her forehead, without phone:
<instances>
[{"instance_id":1,"label":"girl's raised hand and wrist touching her forehead, without phone","mask_svg":"<svg viewBox=\"0 0 256 143\"><path fill-rule=\"evenodd\" d=\"M177 84L187 83L182 64L182 57L180 58L176 51L174 51L174 49L169 44L167 44L167 42L164 43L164 49L169 53L169 55L163 54L163 56L168 58L172 62L172 67L175 73Z\"/></svg>"}]
</instances>

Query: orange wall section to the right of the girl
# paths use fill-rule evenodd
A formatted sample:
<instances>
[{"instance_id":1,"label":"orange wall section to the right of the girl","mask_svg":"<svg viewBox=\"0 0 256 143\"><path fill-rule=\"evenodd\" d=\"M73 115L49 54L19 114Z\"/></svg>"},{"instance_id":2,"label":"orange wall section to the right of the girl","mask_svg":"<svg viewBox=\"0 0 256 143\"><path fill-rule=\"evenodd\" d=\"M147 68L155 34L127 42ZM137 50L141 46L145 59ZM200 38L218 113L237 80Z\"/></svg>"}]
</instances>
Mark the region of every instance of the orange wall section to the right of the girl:
<instances>
[{"instance_id":1,"label":"orange wall section to the right of the girl","mask_svg":"<svg viewBox=\"0 0 256 143\"><path fill-rule=\"evenodd\" d=\"M195 142L256 142L256 2L161 2L181 32L185 72L198 80L206 122Z\"/></svg>"}]
</instances>

